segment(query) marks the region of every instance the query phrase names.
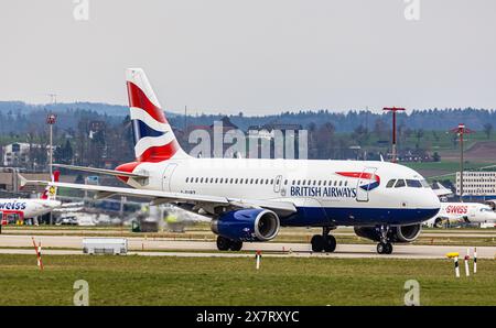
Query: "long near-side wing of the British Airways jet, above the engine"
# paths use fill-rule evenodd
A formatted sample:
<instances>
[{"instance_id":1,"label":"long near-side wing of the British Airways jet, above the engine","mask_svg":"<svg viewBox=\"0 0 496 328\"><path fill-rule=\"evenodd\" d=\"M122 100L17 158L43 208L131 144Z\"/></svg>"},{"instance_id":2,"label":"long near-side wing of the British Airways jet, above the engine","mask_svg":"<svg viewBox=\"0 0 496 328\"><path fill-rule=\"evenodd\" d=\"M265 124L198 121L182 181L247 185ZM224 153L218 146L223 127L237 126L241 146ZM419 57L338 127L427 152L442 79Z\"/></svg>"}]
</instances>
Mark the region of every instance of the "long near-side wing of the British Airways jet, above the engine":
<instances>
[{"instance_id":1,"label":"long near-side wing of the British Airways jet, above the engine","mask_svg":"<svg viewBox=\"0 0 496 328\"><path fill-rule=\"evenodd\" d=\"M122 187L109 187L109 186L95 186L83 184L69 184L69 183L55 183L46 181L21 181L21 185L42 185L42 186L55 186L57 188L72 188L86 192L93 192L96 198L107 198L115 195L132 196L150 199L153 205L159 204L188 204L197 212L209 214L212 216L217 215L219 208L227 210L234 210L239 208L267 208L273 210L281 217L289 216L296 211L294 204L290 201L276 201L276 200L259 200L259 199L239 199L227 198L219 196L197 195L197 194L182 194L182 193L169 193L160 190L147 190L147 189L133 189ZM216 210L217 209L217 210ZM201 212L202 214L202 212Z\"/></svg>"}]
</instances>

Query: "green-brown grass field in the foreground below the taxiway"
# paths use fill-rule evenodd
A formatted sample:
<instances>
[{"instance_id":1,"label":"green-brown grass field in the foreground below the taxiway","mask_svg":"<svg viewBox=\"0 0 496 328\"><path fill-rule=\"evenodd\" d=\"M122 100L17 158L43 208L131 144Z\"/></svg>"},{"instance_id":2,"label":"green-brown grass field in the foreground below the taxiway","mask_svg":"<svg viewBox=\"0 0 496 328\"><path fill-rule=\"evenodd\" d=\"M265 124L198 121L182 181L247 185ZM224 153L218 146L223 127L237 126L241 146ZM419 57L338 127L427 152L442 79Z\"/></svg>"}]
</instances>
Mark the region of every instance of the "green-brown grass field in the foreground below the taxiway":
<instances>
[{"instance_id":1,"label":"green-brown grass field in the foreground below the taxiway","mask_svg":"<svg viewBox=\"0 0 496 328\"><path fill-rule=\"evenodd\" d=\"M496 261L455 278L446 260L0 255L0 305L72 305L86 280L90 305L402 305L407 280L421 305L496 305ZM462 271L463 272L463 271Z\"/></svg>"}]
</instances>

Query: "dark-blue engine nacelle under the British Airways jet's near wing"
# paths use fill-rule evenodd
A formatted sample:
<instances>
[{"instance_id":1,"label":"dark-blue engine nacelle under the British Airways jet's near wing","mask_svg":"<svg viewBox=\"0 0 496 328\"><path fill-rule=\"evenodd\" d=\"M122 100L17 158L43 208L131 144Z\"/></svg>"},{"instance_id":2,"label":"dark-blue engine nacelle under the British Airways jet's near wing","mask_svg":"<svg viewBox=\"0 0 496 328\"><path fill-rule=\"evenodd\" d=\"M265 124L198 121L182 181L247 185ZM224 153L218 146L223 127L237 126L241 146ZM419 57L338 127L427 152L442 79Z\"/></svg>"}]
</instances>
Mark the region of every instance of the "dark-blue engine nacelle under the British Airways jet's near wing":
<instances>
[{"instance_id":1,"label":"dark-blue engine nacelle under the British Airways jet's near wing","mask_svg":"<svg viewBox=\"0 0 496 328\"><path fill-rule=\"evenodd\" d=\"M237 241L268 241L279 232L279 217L268 209L238 209L212 220L215 234Z\"/></svg>"}]
</instances>

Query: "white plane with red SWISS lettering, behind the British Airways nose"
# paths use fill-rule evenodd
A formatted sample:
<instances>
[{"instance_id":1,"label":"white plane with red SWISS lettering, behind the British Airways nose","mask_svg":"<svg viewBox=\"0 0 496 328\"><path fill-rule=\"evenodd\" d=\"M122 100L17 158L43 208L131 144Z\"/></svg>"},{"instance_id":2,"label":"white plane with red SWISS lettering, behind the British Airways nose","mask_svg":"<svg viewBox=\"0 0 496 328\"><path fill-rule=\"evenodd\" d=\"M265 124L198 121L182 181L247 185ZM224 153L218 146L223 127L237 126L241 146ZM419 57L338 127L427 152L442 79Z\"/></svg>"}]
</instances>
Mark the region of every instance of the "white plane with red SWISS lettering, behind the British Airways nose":
<instances>
[{"instance_id":1,"label":"white plane with red SWISS lettering, behind the British Airways nose","mask_svg":"<svg viewBox=\"0 0 496 328\"><path fill-rule=\"evenodd\" d=\"M496 212L481 203L441 203L440 211L424 225L442 228L449 223L496 223Z\"/></svg>"}]
</instances>

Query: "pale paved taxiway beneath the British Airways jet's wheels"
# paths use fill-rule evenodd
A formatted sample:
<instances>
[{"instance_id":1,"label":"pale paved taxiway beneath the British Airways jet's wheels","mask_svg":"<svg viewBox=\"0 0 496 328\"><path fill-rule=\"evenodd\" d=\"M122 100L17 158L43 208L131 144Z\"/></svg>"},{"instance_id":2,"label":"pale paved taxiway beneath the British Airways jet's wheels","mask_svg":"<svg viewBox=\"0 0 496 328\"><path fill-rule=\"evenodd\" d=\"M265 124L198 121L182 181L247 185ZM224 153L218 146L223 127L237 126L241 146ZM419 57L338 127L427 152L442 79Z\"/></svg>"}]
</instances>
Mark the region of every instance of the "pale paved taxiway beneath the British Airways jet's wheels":
<instances>
[{"instance_id":1,"label":"pale paved taxiway beneath the British Airways jet's wheels","mask_svg":"<svg viewBox=\"0 0 496 328\"><path fill-rule=\"evenodd\" d=\"M77 236L35 236L42 242L44 254L82 254L83 239ZM252 256L261 251L265 256L319 256L319 258L392 258L392 259L445 259L450 252L466 254L466 245L395 244L390 255L376 253L376 244L338 244L334 253L314 253L308 243L266 242L245 243L244 252L218 252L216 243L200 240L171 240L165 238L127 238L129 254L154 256ZM3 248L3 249L2 249ZM0 234L0 253L33 253L31 236ZM248 252L247 252L248 251ZM496 247L477 247L477 258L495 259Z\"/></svg>"}]
</instances>

